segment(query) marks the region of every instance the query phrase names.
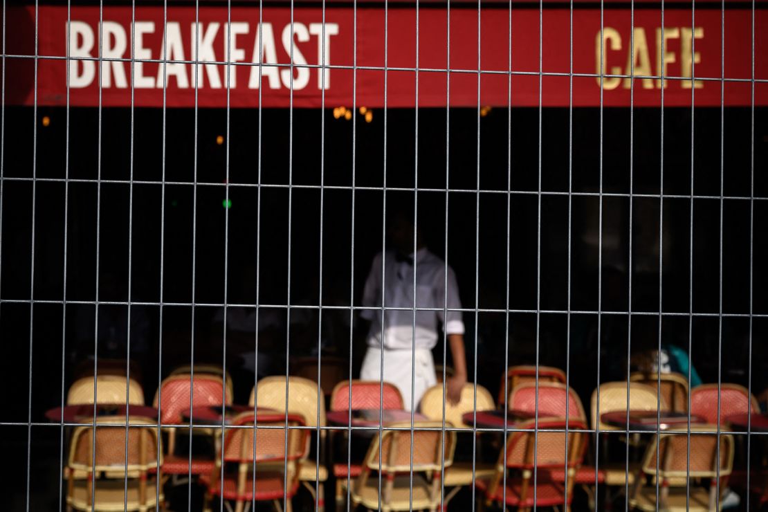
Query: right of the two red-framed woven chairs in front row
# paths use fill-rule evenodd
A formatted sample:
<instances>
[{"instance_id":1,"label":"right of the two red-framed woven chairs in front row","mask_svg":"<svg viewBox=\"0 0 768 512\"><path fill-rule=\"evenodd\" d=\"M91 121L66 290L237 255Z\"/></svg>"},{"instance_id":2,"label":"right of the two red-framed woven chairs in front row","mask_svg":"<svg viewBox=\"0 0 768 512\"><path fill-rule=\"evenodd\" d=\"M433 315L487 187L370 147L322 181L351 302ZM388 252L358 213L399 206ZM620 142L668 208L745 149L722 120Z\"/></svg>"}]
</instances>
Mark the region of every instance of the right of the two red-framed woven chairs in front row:
<instances>
[{"instance_id":1,"label":"right of the two red-framed woven chairs in front row","mask_svg":"<svg viewBox=\"0 0 768 512\"><path fill-rule=\"evenodd\" d=\"M558 507L571 503L574 474L584 454L583 432L552 431L553 429L584 430L582 420L565 418L538 421L538 434L534 431L535 421L526 421L509 434L505 449L498 457L496 473L490 480L475 482L482 491L485 504L505 501L505 506L528 510L531 507ZM566 444L567 443L567 444ZM567 449L566 449L567 448ZM506 460L505 460L506 457ZM504 481L505 467L507 479ZM534 471L537 471L534 492ZM568 472L568 484L556 480L553 475Z\"/></svg>"}]
</instances>

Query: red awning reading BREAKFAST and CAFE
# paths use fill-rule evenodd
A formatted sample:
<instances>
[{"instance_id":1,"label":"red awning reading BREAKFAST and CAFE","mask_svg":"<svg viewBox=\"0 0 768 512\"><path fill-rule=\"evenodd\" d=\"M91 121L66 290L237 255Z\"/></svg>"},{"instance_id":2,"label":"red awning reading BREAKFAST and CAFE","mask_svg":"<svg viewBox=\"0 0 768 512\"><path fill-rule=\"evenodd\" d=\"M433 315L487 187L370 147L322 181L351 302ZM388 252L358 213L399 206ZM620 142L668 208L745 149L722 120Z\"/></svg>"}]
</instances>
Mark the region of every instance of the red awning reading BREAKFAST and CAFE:
<instances>
[{"instance_id":1,"label":"red awning reading BREAKFAST and CAFE","mask_svg":"<svg viewBox=\"0 0 768 512\"><path fill-rule=\"evenodd\" d=\"M398 0L386 10L378 2L329 2L325 10L298 2L293 18L290 7L260 12L237 2L231 15L226 6L198 12L188 4L167 13L157 5L73 5L69 13L41 5L36 96L35 8L8 8L5 97L91 107L641 107L662 97L665 106L719 106L722 95L725 105L746 106L754 84L755 104L768 104L766 2L754 12L731 0L724 12L719 2L697 2L695 12L667 2L664 31L660 5L646 0L634 13L625 2L605 2L602 11L574 3L571 12L547 0L540 12L531 3L510 11L508 2L484 2L478 19L466 3L448 10L427 0L418 25L412 3Z\"/></svg>"}]
</instances>

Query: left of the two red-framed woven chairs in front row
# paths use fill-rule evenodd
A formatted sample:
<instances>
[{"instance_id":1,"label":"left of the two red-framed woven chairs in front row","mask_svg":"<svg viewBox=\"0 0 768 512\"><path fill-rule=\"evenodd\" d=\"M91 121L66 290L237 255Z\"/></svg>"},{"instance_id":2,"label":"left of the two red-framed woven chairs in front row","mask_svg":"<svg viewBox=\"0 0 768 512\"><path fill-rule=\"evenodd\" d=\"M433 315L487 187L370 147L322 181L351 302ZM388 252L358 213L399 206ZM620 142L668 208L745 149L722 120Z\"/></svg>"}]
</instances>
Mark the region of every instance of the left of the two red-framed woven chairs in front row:
<instances>
[{"instance_id":1,"label":"left of the two red-framed woven chairs in front row","mask_svg":"<svg viewBox=\"0 0 768 512\"><path fill-rule=\"evenodd\" d=\"M225 427L223 454L217 454L210 476L200 479L208 487L205 510L210 510L214 496L234 501L236 512L242 512L249 501L274 501L280 510L280 501L285 500L286 512L292 510L310 430L296 428L304 426L300 415L288 416L287 435L285 420L259 421L258 428L253 428L256 424L253 412L246 412L233 419L234 428ZM224 464L237 464L237 471L226 471L226 467L222 471L222 458Z\"/></svg>"}]
</instances>

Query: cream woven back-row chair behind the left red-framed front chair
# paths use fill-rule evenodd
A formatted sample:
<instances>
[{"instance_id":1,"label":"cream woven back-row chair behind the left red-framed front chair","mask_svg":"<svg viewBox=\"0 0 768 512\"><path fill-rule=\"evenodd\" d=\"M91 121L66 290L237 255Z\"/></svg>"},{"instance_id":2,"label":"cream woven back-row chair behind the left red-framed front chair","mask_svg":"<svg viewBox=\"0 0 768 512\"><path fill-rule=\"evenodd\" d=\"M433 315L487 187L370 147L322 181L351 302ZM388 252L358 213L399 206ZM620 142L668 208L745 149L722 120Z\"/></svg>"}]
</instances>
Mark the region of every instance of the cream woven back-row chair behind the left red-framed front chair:
<instances>
[{"instance_id":1,"label":"cream woven back-row chair behind the left red-framed front chair","mask_svg":"<svg viewBox=\"0 0 768 512\"><path fill-rule=\"evenodd\" d=\"M288 382L288 412L302 415L306 426L319 427L319 446L326 444L326 403L323 390L317 383L308 378L290 376ZM258 396L256 392L258 390ZM257 405L284 412L286 410L286 378L283 375L265 377L257 383L250 392L249 405ZM309 454L307 454L308 456ZM321 454L322 458L322 454ZM299 481L306 487L313 500L316 500L317 510L322 512L325 503L323 484L328 480L328 468L319 461L305 458L300 464ZM317 484L317 491L313 485Z\"/></svg>"}]
</instances>

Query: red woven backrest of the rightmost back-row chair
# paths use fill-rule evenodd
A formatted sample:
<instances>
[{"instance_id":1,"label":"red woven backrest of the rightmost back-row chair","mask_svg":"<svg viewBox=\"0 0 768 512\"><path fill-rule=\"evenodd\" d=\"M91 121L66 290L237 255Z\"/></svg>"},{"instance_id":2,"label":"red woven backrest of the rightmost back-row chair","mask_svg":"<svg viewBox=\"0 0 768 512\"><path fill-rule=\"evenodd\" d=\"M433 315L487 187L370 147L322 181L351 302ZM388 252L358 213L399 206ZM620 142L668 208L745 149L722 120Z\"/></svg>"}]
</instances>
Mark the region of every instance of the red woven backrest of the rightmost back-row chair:
<instances>
[{"instance_id":1,"label":"red woven backrest of the rightmost back-row chair","mask_svg":"<svg viewBox=\"0 0 768 512\"><path fill-rule=\"evenodd\" d=\"M720 423L725 423L728 416L760 411L757 399L742 385L721 383L702 384L690 390L690 414L707 419L707 423L717 424L717 395L720 394Z\"/></svg>"}]
</instances>

